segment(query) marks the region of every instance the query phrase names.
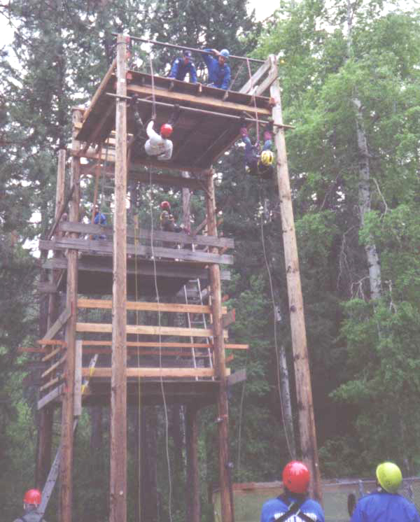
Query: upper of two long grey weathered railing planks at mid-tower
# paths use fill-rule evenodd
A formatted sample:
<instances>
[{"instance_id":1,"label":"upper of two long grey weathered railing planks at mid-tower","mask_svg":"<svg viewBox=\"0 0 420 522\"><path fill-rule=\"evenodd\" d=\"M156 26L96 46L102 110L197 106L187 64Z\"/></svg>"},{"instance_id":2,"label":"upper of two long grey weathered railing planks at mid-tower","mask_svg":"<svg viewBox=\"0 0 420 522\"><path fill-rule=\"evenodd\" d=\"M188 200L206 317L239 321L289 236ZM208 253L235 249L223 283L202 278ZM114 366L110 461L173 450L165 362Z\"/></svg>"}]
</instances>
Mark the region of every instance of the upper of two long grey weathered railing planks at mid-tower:
<instances>
[{"instance_id":1,"label":"upper of two long grey weathered railing planks at mid-tower","mask_svg":"<svg viewBox=\"0 0 420 522\"><path fill-rule=\"evenodd\" d=\"M64 232L78 232L78 234L113 234L112 227L102 225L92 225L87 223L72 223L66 221L59 226L59 230ZM184 234L183 232L162 232L162 230L135 229L127 227L127 237L137 237L137 239L153 239L155 241L174 241L175 243L186 243L195 245L210 245L219 248L234 248L235 241L229 237L214 237L207 235Z\"/></svg>"}]
</instances>

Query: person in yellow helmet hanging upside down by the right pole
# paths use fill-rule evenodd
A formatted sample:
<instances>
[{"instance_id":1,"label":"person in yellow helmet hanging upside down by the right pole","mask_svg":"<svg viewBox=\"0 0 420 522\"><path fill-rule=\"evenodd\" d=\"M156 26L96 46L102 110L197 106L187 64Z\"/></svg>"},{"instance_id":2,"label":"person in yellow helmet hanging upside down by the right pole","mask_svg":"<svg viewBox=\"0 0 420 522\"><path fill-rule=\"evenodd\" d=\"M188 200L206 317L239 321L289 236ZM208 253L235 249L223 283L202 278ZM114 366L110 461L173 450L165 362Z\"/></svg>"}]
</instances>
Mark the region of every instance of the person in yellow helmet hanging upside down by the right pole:
<instances>
[{"instance_id":1,"label":"person in yellow helmet hanging upside down by the right pole","mask_svg":"<svg viewBox=\"0 0 420 522\"><path fill-rule=\"evenodd\" d=\"M248 136L248 129L246 128L245 118L240 121L241 140L245 143L245 170L252 176L260 176L262 179L271 179L274 174L274 154L272 153L272 131L273 122L270 120L264 129L264 146L262 146L262 153L260 154L260 144L251 143Z\"/></svg>"}]
</instances>

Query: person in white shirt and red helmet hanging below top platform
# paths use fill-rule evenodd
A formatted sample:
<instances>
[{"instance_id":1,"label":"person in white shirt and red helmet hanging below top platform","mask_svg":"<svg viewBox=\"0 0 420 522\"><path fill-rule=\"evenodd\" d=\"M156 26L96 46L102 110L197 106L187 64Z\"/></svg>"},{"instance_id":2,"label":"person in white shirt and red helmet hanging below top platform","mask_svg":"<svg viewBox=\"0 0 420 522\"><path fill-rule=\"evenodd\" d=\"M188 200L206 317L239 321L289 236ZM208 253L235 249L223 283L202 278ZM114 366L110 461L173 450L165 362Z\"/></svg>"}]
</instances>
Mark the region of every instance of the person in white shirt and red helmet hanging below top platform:
<instances>
[{"instance_id":1,"label":"person in white shirt and red helmet hanging below top platform","mask_svg":"<svg viewBox=\"0 0 420 522\"><path fill-rule=\"evenodd\" d=\"M160 126L160 134L155 132L153 126L155 125L155 115L152 115L150 122L148 122L146 127L146 133L144 130L143 121L141 120L139 113L139 99L136 95L132 97L132 102L134 106L134 142L132 143L134 146L139 147L144 143L144 150L148 156L157 157L160 161L169 161L172 157L173 144L169 139L171 136L174 125L179 118L181 113L181 108L179 105L174 105L174 110L169 117L167 123L164 123ZM146 136L145 136L146 134Z\"/></svg>"}]
</instances>

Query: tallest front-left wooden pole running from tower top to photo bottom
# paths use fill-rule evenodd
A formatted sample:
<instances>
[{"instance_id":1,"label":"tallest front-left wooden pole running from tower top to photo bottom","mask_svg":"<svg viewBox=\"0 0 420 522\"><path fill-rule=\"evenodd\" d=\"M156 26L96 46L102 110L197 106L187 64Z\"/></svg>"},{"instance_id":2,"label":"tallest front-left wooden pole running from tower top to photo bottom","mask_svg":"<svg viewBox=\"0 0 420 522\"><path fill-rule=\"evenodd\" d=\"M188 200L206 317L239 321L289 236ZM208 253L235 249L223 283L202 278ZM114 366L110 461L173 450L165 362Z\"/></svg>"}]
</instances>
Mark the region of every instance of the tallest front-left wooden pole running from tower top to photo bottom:
<instances>
[{"instance_id":1,"label":"tallest front-left wooden pole running from tower top to photo bottom","mask_svg":"<svg viewBox=\"0 0 420 522\"><path fill-rule=\"evenodd\" d=\"M127 39L117 38L117 96L127 96ZM127 108L116 101L113 223L110 522L127 521Z\"/></svg>"}]
</instances>

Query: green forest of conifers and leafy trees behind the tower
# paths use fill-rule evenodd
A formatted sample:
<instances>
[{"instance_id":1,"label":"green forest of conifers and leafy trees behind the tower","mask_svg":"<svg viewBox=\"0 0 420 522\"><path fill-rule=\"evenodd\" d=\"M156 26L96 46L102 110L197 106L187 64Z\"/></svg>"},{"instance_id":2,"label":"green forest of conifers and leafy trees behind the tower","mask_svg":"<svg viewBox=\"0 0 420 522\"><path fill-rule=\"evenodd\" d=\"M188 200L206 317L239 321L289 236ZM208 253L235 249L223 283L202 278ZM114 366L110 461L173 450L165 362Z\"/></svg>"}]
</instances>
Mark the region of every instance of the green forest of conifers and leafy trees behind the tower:
<instances>
[{"instance_id":1,"label":"green forest of conifers and leafy trees behind the tower","mask_svg":"<svg viewBox=\"0 0 420 522\"><path fill-rule=\"evenodd\" d=\"M114 52L109 34L118 31L235 55L279 55L283 118L295 127L286 143L322 476L372 477L385 459L406 476L419 473L419 14L414 4L377 0L281 1L264 22L248 14L244 0L0 3L14 31L13 43L0 48L1 518L20 514L22 494L34 483L37 373L34 358L18 348L39 338L43 303L39 263L28 246L52 223L57 150L70 140L70 108L92 96ZM134 50L146 70L147 50ZM174 57L154 48L155 70L165 73ZM247 79L246 70L239 73L234 89ZM250 345L231 364L248 376L230 395L232 479L271 481L290 459L274 327L296 411L278 200L274 182L244 174L240 144L216 170L221 230L236 243L232 280L223 288L237 310L230 339ZM155 219L163 198L181 218L179 193L156 190ZM196 220L202 212L194 195ZM211 408L200 414L205 521L207 488L218 476L215 415ZM137 412L129 417L130 521L167 520L165 418L153 408L141 412L140 423ZM183 421L183 409L169 409L173 521L185 520ZM87 409L78 427L75 519L82 522L106 519L108 428L109 411L98 408ZM136 501L139 429L151 512ZM57 414L55 444L58 436Z\"/></svg>"}]
</instances>

